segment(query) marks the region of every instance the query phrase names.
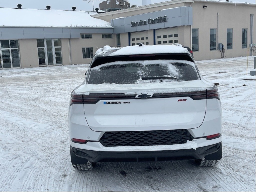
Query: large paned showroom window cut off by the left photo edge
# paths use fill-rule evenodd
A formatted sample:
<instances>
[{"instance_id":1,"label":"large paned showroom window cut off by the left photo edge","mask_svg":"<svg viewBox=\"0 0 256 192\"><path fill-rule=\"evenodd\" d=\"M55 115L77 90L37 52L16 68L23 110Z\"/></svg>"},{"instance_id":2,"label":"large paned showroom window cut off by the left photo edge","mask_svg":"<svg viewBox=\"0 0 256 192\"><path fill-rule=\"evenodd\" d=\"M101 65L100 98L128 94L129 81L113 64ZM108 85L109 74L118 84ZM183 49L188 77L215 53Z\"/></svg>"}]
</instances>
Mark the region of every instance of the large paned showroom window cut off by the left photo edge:
<instances>
[{"instance_id":1,"label":"large paned showroom window cut off by the left photo edge","mask_svg":"<svg viewBox=\"0 0 256 192\"><path fill-rule=\"evenodd\" d=\"M0 69L20 67L19 41L0 40Z\"/></svg>"}]
</instances>

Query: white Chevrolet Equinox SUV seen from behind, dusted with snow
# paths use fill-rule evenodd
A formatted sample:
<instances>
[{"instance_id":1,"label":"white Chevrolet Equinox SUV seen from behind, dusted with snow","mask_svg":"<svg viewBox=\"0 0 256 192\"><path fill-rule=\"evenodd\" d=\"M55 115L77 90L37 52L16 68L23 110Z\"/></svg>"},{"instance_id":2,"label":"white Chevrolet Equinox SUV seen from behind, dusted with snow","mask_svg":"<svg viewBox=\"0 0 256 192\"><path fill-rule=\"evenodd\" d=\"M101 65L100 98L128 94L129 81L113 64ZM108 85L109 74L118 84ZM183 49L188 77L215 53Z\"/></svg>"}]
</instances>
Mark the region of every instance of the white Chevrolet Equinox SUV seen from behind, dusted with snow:
<instances>
[{"instance_id":1,"label":"white Chevrolet Equinox SUV seen from behind, dusted with snow","mask_svg":"<svg viewBox=\"0 0 256 192\"><path fill-rule=\"evenodd\" d=\"M73 167L96 162L222 157L218 89L204 80L181 45L99 49L71 93Z\"/></svg>"}]
</instances>

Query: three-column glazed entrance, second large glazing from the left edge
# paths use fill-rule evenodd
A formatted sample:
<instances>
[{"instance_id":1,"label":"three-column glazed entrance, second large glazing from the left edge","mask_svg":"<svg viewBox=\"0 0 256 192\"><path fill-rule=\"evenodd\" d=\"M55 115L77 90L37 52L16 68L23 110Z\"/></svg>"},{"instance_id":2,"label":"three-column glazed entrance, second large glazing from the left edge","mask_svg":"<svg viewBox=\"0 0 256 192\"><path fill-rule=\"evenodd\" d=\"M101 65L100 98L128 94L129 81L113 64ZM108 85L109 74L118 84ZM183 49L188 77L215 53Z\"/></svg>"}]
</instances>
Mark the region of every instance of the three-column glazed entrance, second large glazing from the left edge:
<instances>
[{"instance_id":1,"label":"three-column glazed entrance, second large glazing from the left edge","mask_svg":"<svg viewBox=\"0 0 256 192\"><path fill-rule=\"evenodd\" d=\"M37 39L39 66L62 65L61 40Z\"/></svg>"}]
</instances>

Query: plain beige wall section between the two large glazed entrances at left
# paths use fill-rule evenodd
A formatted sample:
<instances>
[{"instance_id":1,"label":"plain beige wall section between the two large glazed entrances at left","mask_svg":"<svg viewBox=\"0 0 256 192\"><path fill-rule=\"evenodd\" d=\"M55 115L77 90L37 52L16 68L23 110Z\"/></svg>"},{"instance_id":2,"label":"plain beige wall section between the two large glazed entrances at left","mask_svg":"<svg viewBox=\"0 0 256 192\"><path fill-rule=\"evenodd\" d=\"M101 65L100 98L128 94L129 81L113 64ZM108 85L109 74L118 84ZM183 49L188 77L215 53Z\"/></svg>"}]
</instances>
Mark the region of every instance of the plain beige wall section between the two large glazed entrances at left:
<instances>
[{"instance_id":1,"label":"plain beige wall section between the two large glazed entrances at left","mask_svg":"<svg viewBox=\"0 0 256 192\"><path fill-rule=\"evenodd\" d=\"M36 39L19 39L20 66L39 67Z\"/></svg>"}]
</instances>

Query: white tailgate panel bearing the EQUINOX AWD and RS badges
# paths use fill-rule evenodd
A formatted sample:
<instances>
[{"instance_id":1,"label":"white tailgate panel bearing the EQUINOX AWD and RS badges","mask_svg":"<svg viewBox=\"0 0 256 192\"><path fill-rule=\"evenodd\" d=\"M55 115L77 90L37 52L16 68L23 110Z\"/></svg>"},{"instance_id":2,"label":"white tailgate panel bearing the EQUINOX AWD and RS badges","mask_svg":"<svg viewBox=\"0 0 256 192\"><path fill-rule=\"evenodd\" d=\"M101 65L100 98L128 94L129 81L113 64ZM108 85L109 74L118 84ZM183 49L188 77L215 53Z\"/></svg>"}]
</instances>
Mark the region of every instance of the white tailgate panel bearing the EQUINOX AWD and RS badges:
<instances>
[{"instance_id":1,"label":"white tailgate panel bearing the EQUINOX AWD and RS badges","mask_svg":"<svg viewBox=\"0 0 256 192\"><path fill-rule=\"evenodd\" d=\"M145 131L191 129L205 117L206 99L190 97L102 99L84 104L93 131Z\"/></svg>"}]
</instances>

